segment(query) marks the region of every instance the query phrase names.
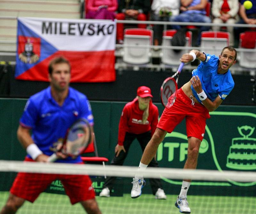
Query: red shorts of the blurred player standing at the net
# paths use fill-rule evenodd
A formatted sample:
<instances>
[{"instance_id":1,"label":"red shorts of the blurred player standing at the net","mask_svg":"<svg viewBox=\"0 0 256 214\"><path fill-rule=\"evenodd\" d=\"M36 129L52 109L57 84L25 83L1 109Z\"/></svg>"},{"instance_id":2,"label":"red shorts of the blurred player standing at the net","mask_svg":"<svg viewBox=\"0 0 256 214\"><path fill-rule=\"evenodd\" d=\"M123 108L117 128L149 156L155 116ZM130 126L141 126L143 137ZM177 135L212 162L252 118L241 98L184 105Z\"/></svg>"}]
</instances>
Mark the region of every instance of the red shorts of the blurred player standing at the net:
<instances>
[{"instance_id":1,"label":"red shorts of the blurred player standing at the net","mask_svg":"<svg viewBox=\"0 0 256 214\"><path fill-rule=\"evenodd\" d=\"M34 160L26 157L25 161ZM72 204L95 198L92 181L88 175L18 173L10 192L33 203L56 179L63 184Z\"/></svg>"}]
</instances>

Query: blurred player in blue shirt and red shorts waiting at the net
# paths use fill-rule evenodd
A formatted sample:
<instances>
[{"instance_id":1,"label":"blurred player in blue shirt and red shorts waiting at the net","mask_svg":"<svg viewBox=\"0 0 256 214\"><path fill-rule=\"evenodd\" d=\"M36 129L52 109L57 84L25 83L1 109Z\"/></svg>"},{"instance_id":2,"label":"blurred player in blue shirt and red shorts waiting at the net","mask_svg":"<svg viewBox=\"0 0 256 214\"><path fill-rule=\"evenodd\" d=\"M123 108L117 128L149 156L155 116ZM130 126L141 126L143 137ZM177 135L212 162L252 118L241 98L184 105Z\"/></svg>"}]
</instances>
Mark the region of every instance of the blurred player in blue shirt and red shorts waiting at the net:
<instances>
[{"instance_id":1,"label":"blurred player in blue shirt and red shorts waiting at the net","mask_svg":"<svg viewBox=\"0 0 256 214\"><path fill-rule=\"evenodd\" d=\"M30 97L20 119L17 135L28 153L25 161L47 162L53 153L51 148L65 137L67 129L77 119L84 118L93 125L92 111L86 96L69 87L69 62L63 57L53 59L49 64L48 75L50 86ZM73 159L60 152L57 156L56 162L82 163L80 156ZM10 196L0 213L16 213L25 200L33 203L56 179L62 182L72 204L80 202L87 213L101 213L88 175L37 173L17 174Z\"/></svg>"}]
</instances>

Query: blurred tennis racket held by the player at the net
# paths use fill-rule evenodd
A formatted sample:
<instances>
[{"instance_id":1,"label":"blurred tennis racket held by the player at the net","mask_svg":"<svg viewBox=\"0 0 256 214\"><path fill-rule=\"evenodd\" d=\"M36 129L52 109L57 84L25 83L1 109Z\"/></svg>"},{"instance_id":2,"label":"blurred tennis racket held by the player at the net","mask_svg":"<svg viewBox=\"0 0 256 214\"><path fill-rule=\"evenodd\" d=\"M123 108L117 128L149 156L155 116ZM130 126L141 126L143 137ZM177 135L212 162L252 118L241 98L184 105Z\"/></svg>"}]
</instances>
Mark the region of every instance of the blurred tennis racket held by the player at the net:
<instances>
[{"instance_id":1,"label":"blurred tennis racket held by the player at the net","mask_svg":"<svg viewBox=\"0 0 256 214\"><path fill-rule=\"evenodd\" d=\"M92 128L89 122L85 119L79 119L68 129L61 147L58 146L60 148L56 148L55 152L62 152L65 155L75 158L87 148L91 143L91 139ZM48 162L54 162L57 159L56 153L53 153L48 158Z\"/></svg>"}]
</instances>

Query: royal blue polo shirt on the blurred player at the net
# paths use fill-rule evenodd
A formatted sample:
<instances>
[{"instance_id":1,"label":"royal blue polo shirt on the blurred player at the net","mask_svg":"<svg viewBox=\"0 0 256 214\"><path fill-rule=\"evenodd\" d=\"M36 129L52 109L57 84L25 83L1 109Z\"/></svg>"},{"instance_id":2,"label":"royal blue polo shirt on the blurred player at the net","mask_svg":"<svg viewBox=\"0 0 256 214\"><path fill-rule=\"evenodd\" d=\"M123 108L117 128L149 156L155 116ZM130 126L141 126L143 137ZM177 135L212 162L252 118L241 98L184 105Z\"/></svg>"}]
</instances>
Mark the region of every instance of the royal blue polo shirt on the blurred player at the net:
<instances>
[{"instance_id":1,"label":"royal blue polo shirt on the blurred player at the net","mask_svg":"<svg viewBox=\"0 0 256 214\"><path fill-rule=\"evenodd\" d=\"M35 144L50 156L53 144L64 138L67 129L79 118L85 118L93 125L92 109L87 97L69 87L68 96L60 107L52 98L49 86L29 98L20 118L20 125L32 129L31 137ZM81 162L81 158L59 159L56 162L77 163Z\"/></svg>"}]
</instances>

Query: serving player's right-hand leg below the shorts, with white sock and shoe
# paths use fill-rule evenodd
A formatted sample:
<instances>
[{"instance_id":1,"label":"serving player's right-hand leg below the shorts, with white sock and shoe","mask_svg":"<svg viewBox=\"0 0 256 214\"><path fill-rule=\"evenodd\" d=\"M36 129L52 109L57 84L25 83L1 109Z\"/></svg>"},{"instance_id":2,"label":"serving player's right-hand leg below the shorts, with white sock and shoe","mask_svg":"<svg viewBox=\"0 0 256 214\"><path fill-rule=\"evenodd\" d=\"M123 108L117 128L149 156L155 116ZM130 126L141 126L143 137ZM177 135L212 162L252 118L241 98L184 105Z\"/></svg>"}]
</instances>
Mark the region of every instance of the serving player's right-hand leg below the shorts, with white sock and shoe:
<instances>
[{"instance_id":1,"label":"serving player's right-hand leg below the shorts, with white sock and shoe","mask_svg":"<svg viewBox=\"0 0 256 214\"><path fill-rule=\"evenodd\" d=\"M188 138L188 158L186 160L184 169L196 169L198 152L201 140L196 137ZM180 195L178 196L175 206L180 209L181 213L190 213L190 208L187 201L187 192L191 180L183 180Z\"/></svg>"}]
</instances>

